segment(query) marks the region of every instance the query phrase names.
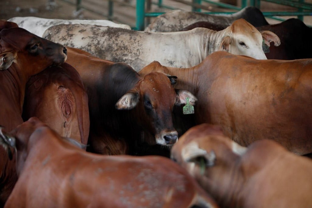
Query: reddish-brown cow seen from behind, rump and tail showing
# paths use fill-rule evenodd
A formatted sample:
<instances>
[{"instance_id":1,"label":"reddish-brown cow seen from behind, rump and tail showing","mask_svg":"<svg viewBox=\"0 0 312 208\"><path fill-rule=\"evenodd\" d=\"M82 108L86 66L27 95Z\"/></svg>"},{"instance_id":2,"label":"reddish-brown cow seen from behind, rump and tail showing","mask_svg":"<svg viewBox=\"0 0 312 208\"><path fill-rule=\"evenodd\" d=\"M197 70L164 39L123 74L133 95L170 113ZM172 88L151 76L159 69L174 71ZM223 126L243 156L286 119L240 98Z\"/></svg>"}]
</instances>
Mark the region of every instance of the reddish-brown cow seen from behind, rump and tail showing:
<instances>
[{"instance_id":1,"label":"reddish-brown cow seen from behind, rump and tail showing","mask_svg":"<svg viewBox=\"0 0 312 208\"><path fill-rule=\"evenodd\" d=\"M63 137L87 144L88 95L78 72L69 64L52 65L26 85L23 120L36 116Z\"/></svg>"}]
</instances>

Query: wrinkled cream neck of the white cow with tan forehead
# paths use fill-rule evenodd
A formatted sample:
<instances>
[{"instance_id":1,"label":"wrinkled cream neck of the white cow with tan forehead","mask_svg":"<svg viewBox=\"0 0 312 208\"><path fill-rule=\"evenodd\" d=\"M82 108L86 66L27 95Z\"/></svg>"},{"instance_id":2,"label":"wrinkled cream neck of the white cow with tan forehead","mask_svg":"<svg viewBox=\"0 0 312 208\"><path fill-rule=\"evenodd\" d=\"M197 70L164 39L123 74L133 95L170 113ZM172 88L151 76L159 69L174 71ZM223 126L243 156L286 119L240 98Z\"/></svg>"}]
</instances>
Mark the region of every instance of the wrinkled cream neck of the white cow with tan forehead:
<instances>
[{"instance_id":1,"label":"wrinkled cream neck of the white cow with tan forehead","mask_svg":"<svg viewBox=\"0 0 312 208\"><path fill-rule=\"evenodd\" d=\"M214 31L214 30L210 30L207 33L207 55L212 54L215 51L220 51L220 45L222 42L222 39L226 36L226 34L228 33L228 30L230 28L227 27L224 30L221 31Z\"/></svg>"}]
</instances>

